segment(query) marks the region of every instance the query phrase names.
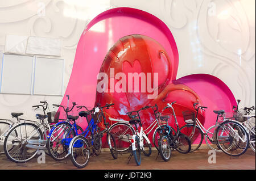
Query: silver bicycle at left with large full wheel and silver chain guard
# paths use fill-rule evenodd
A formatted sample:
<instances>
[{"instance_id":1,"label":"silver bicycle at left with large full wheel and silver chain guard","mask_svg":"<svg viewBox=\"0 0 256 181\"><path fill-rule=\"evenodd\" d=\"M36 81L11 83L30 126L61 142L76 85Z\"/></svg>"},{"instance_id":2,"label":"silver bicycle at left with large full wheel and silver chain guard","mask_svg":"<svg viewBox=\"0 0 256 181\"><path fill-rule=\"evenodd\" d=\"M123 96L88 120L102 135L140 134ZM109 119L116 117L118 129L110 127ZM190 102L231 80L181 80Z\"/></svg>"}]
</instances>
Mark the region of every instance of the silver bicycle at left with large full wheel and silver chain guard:
<instances>
[{"instance_id":1,"label":"silver bicycle at left with large full wheel and silver chain guard","mask_svg":"<svg viewBox=\"0 0 256 181\"><path fill-rule=\"evenodd\" d=\"M47 104L47 102L40 103ZM36 107L35 110L39 107L43 107L45 113L46 109L43 105L32 107ZM30 161L38 153L38 150L47 150L47 131L51 129L50 123L45 120L48 115L36 114L36 119L39 119L40 123L21 119L19 118L21 115L23 115L23 113L11 113L11 116L16 118L18 124L15 124L13 128L6 133L7 135L3 143L6 157L16 163ZM20 123L20 121L24 121L24 123ZM26 121L28 121L28 123Z\"/></svg>"}]
</instances>

